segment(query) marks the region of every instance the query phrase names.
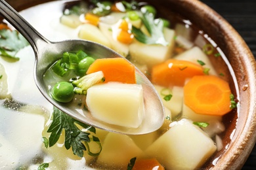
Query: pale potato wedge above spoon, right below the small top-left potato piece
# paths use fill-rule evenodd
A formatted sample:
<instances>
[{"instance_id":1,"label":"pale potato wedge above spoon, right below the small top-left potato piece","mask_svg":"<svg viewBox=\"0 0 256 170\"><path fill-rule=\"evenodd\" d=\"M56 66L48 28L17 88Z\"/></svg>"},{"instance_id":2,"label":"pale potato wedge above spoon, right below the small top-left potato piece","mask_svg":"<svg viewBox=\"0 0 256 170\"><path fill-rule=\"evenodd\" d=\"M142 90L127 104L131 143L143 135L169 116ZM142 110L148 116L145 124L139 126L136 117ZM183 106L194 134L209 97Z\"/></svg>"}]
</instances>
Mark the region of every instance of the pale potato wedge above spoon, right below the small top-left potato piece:
<instances>
[{"instance_id":1,"label":"pale potato wedge above spoon, right below the small top-left potato piece","mask_svg":"<svg viewBox=\"0 0 256 170\"><path fill-rule=\"evenodd\" d=\"M80 27L80 31L78 33L78 37L80 39L85 39L93 42L98 42L104 46L108 46L110 48L110 41L105 37L105 35L92 24L83 24Z\"/></svg>"}]
</instances>

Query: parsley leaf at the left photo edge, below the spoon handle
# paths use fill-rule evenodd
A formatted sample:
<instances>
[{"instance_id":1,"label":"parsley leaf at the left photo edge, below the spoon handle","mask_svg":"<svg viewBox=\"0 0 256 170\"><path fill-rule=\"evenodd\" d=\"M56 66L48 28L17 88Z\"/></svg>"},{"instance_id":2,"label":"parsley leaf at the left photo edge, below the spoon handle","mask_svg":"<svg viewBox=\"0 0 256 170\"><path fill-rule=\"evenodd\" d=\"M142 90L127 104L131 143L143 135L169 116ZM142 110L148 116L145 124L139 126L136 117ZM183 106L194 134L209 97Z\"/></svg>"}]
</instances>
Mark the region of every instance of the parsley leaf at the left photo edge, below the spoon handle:
<instances>
[{"instance_id":1,"label":"parsley leaf at the left photo edge, below the spoon handle","mask_svg":"<svg viewBox=\"0 0 256 170\"><path fill-rule=\"evenodd\" d=\"M26 39L18 33L18 31L11 31L9 29L1 29L0 30L0 55L6 58L11 58L16 61L19 58L16 58L16 53L28 46L29 43Z\"/></svg>"}]
</instances>

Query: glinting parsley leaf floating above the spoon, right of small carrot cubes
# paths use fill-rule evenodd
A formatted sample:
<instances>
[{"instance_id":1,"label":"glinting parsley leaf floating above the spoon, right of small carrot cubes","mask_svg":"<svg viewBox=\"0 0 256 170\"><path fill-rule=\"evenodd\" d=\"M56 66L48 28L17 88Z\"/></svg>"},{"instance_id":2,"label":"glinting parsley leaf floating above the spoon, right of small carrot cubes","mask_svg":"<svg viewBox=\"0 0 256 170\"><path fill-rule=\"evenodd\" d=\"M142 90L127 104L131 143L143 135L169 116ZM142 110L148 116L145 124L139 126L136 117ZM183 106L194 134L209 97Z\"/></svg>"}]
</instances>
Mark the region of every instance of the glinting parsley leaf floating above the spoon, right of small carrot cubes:
<instances>
[{"instance_id":1,"label":"glinting parsley leaf floating above the spoon, right of small carrot cubes","mask_svg":"<svg viewBox=\"0 0 256 170\"><path fill-rule=\"evenodd\" d=\"M133 26L131 31L135 35L135 39L137 39L137 41L144 44L161 44L163 46L167 46L169 44L165 41L165 37L163 36L163 20L154 20L154 16L149 12L143 13L141 20L148 30L148 33L150 33L150 37L144 34L137 27Z\"/></svg>"}]
</instances>

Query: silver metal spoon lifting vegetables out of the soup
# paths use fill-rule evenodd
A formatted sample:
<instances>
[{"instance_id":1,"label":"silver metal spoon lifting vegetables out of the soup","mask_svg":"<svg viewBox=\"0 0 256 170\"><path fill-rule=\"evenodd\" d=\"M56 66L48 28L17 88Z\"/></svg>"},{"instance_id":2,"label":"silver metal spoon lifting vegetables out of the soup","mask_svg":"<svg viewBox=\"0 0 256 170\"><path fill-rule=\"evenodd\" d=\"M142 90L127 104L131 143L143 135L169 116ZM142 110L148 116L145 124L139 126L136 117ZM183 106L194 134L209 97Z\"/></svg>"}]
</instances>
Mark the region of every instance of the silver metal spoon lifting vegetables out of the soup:
<instances>
[{"instance_id":1,"label":"silver metal spoon lifting vegetables out of the soup","mask_svg":"<svg viewBox=\"0 0 256 170\"><path fill-rule=\"evenodd\" d=\"M3 0L0 0L0 14L15 27L30 43L35 53L34 80L37 88L43 96L51 102L56 108L72 116L76 120L98 127L106 131L112 131L121 134L140 135L156 131L163 124L165 118L163 104L156 93L154 86L136 68L137 84L142 84L144 95L145 116L142 124L138 128L116 127L110 124L104 124L96 120L91 114L81 114L77 110L71 109L64 103L58 103L50 95L49 90L43 82L43 75L51 65L62 57L64 52L77 52L83 50L88 54L94 54L100 58L123 58L114 50L91 41L67 40L61 42L51 42L38 33L16 10ZM127 60L128 61L128 60Z\"/></svg>"}]
</instances>

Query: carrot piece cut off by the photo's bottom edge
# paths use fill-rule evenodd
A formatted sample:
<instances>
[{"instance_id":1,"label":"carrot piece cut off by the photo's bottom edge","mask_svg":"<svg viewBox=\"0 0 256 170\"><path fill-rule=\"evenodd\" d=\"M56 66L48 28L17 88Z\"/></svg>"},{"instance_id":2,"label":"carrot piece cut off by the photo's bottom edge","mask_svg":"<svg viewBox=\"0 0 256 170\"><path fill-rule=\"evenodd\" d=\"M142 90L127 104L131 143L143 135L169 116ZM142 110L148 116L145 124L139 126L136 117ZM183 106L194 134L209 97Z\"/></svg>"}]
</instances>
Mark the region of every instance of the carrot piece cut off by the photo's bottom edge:
<instances>
[{"instance_id":1,"label":"carrot piece cut off by the photo's bottom edge","mask_svg":"<svg viewBox=\"0 0 256 170\"><path fill-rule=\"evenodd\" d=\"M156 160L156 158L152 159L143 159L143 160L136 160L135 165L133 166L133 170L164 170L165 168Z\"/></svg>"}]
</instances>

